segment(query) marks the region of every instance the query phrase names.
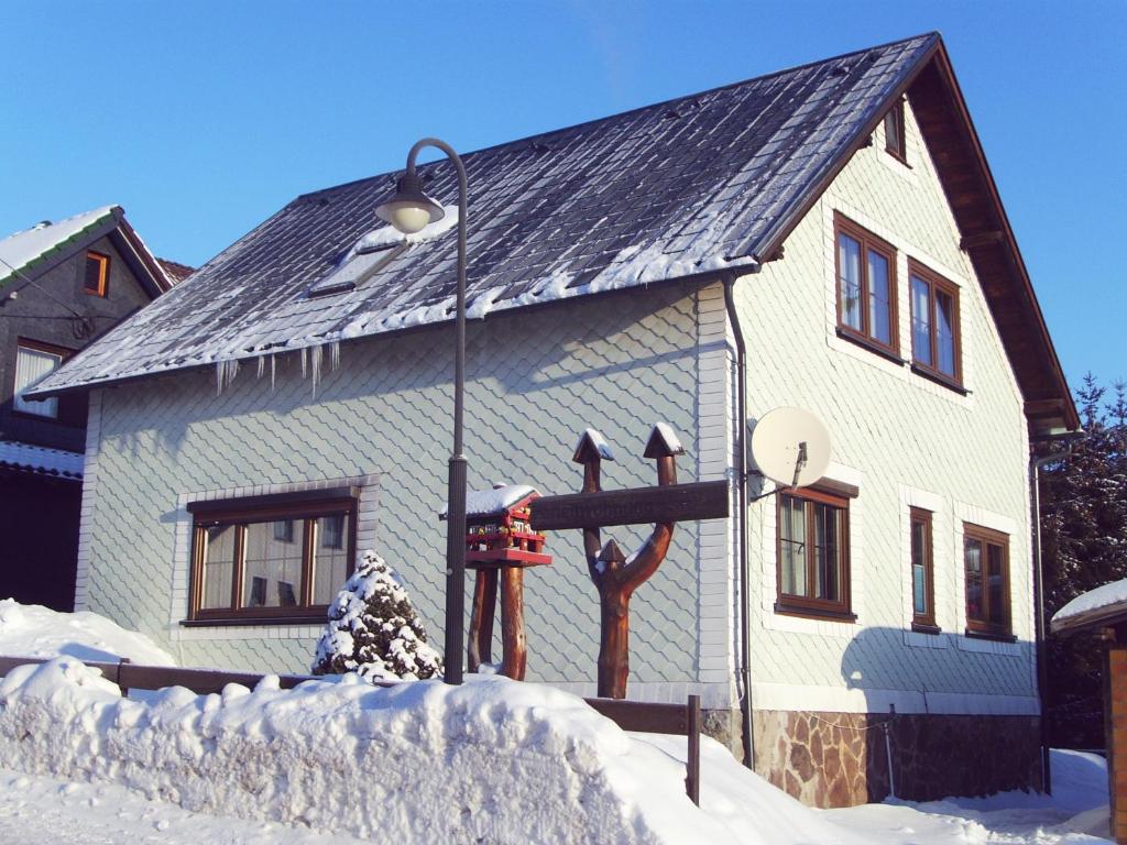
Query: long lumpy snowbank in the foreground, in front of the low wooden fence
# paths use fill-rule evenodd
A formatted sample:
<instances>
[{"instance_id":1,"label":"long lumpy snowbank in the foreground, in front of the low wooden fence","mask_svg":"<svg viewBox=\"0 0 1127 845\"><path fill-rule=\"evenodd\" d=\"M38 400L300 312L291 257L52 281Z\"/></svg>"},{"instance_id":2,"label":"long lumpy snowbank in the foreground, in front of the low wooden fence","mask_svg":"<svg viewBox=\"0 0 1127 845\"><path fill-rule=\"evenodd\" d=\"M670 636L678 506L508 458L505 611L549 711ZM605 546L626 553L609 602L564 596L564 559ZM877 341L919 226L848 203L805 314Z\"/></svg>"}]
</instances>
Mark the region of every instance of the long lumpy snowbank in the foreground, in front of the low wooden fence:
<instances>
[{"instance_id":1,"label":"long lumpy snowbank in the foreground, in front of the low wooden fence","mask_svg":"<svg viewBox=\"0 0 1127 845\"><path fill-rule=\"evenodd\" d=\"M0 759L190 811L381 842L737 842L685 797L677 760L580 699L504 677L383 688L348 675L292 691L268 677L254 692L171 687L141 702L64 657L0 682ZM771 824L813 818L758 789L788 808ZM731 797L709 800L740 812Z\"/></svg>"}]
</instances>

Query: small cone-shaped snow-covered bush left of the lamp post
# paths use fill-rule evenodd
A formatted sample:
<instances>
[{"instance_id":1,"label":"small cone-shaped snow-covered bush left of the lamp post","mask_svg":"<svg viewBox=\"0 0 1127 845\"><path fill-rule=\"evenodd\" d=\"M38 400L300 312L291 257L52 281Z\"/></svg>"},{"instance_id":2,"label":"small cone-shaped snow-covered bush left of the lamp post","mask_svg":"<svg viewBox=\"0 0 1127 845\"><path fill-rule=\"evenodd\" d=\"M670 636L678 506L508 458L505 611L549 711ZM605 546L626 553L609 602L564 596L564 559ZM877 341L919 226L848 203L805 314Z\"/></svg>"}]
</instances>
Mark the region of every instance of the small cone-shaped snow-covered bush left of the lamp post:
<instances>
[{"instance_id":1,"label":"small cone-shaped snow-covered bush left of the lamp post","mask_svg":"<svg viewBox=\"0 0 1127 845\"><path fill-rule=\"evenodd\" d=\"M356 671L378 681L431 678L442 658L407 590L375 552L361 555L356 571L329 605L329 622L317 643L314 675Z\"/></svg>"}]
</instances>

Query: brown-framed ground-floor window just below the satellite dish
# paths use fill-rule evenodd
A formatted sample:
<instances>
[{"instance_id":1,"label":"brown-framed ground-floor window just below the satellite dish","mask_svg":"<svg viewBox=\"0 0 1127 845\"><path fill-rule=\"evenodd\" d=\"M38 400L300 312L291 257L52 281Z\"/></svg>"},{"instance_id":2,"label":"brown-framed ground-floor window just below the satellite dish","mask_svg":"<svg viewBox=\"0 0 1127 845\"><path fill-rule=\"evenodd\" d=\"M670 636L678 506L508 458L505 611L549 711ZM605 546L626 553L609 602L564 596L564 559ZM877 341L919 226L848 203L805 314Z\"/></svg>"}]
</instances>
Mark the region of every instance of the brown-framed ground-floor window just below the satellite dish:
<instances>
[{"instance_id":1,"label":"brown-framed ground-floor window just below the satellite dish","mask_svg":"<svg viewBox=\"0 0 1127 845\"><path fill-rule=\"evenodd\" d=\"M822 490L779 493L775 611L854 619L850 612L849 499Z\"/></svg>"}]
</instances>

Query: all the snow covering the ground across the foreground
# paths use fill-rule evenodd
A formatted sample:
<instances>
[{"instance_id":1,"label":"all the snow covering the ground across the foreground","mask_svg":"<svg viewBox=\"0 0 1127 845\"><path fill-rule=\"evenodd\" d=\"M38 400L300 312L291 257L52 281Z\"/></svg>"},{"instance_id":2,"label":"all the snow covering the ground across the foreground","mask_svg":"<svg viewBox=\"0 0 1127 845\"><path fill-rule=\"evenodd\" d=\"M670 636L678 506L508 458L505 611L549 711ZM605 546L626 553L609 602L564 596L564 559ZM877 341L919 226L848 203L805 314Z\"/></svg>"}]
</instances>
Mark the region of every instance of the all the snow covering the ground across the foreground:
<instances>
[{"instance_id":1,"label":"all the snow covering the ground across the foreground","mask_svg":"<svg viewBox=\"0 0 1127 845\"><path fill-rule=\"evenodd\" d=\"M0 653L171 659L94 614L0 602ZM575 696L503 677L373 688L174 687L123 699L63 657L0 678L0 843L1106 843L1107 768L1055 751L1055 794L818 811L710 739L701 807L683 737L624 733ZM363 839L354 838L356 836Z\"/></svg>"}]
</instances>

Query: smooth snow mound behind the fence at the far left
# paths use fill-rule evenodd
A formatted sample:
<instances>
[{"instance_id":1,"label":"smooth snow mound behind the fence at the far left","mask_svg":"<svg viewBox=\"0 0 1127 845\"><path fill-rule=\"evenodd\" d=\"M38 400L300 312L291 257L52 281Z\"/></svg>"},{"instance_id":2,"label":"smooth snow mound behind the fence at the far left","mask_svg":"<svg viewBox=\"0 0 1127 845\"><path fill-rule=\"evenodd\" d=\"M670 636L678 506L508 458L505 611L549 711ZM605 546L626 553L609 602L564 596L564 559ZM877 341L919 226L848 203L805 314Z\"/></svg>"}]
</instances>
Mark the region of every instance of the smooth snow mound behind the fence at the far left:
<instances>
[{"instance_id":1,"label":"smooth snow mound behind the fence at the far left","mask_svg":"<svg viewBox=\"0 0 1127 845\"><path fill-rule=\"evenodd\" d=\"M0 657L55 657L115 662L123 657L147 666L175 666L152 640L126 631L97 613L57 613L37 604L0 601Z\"/></svg>"}]
</instances>

